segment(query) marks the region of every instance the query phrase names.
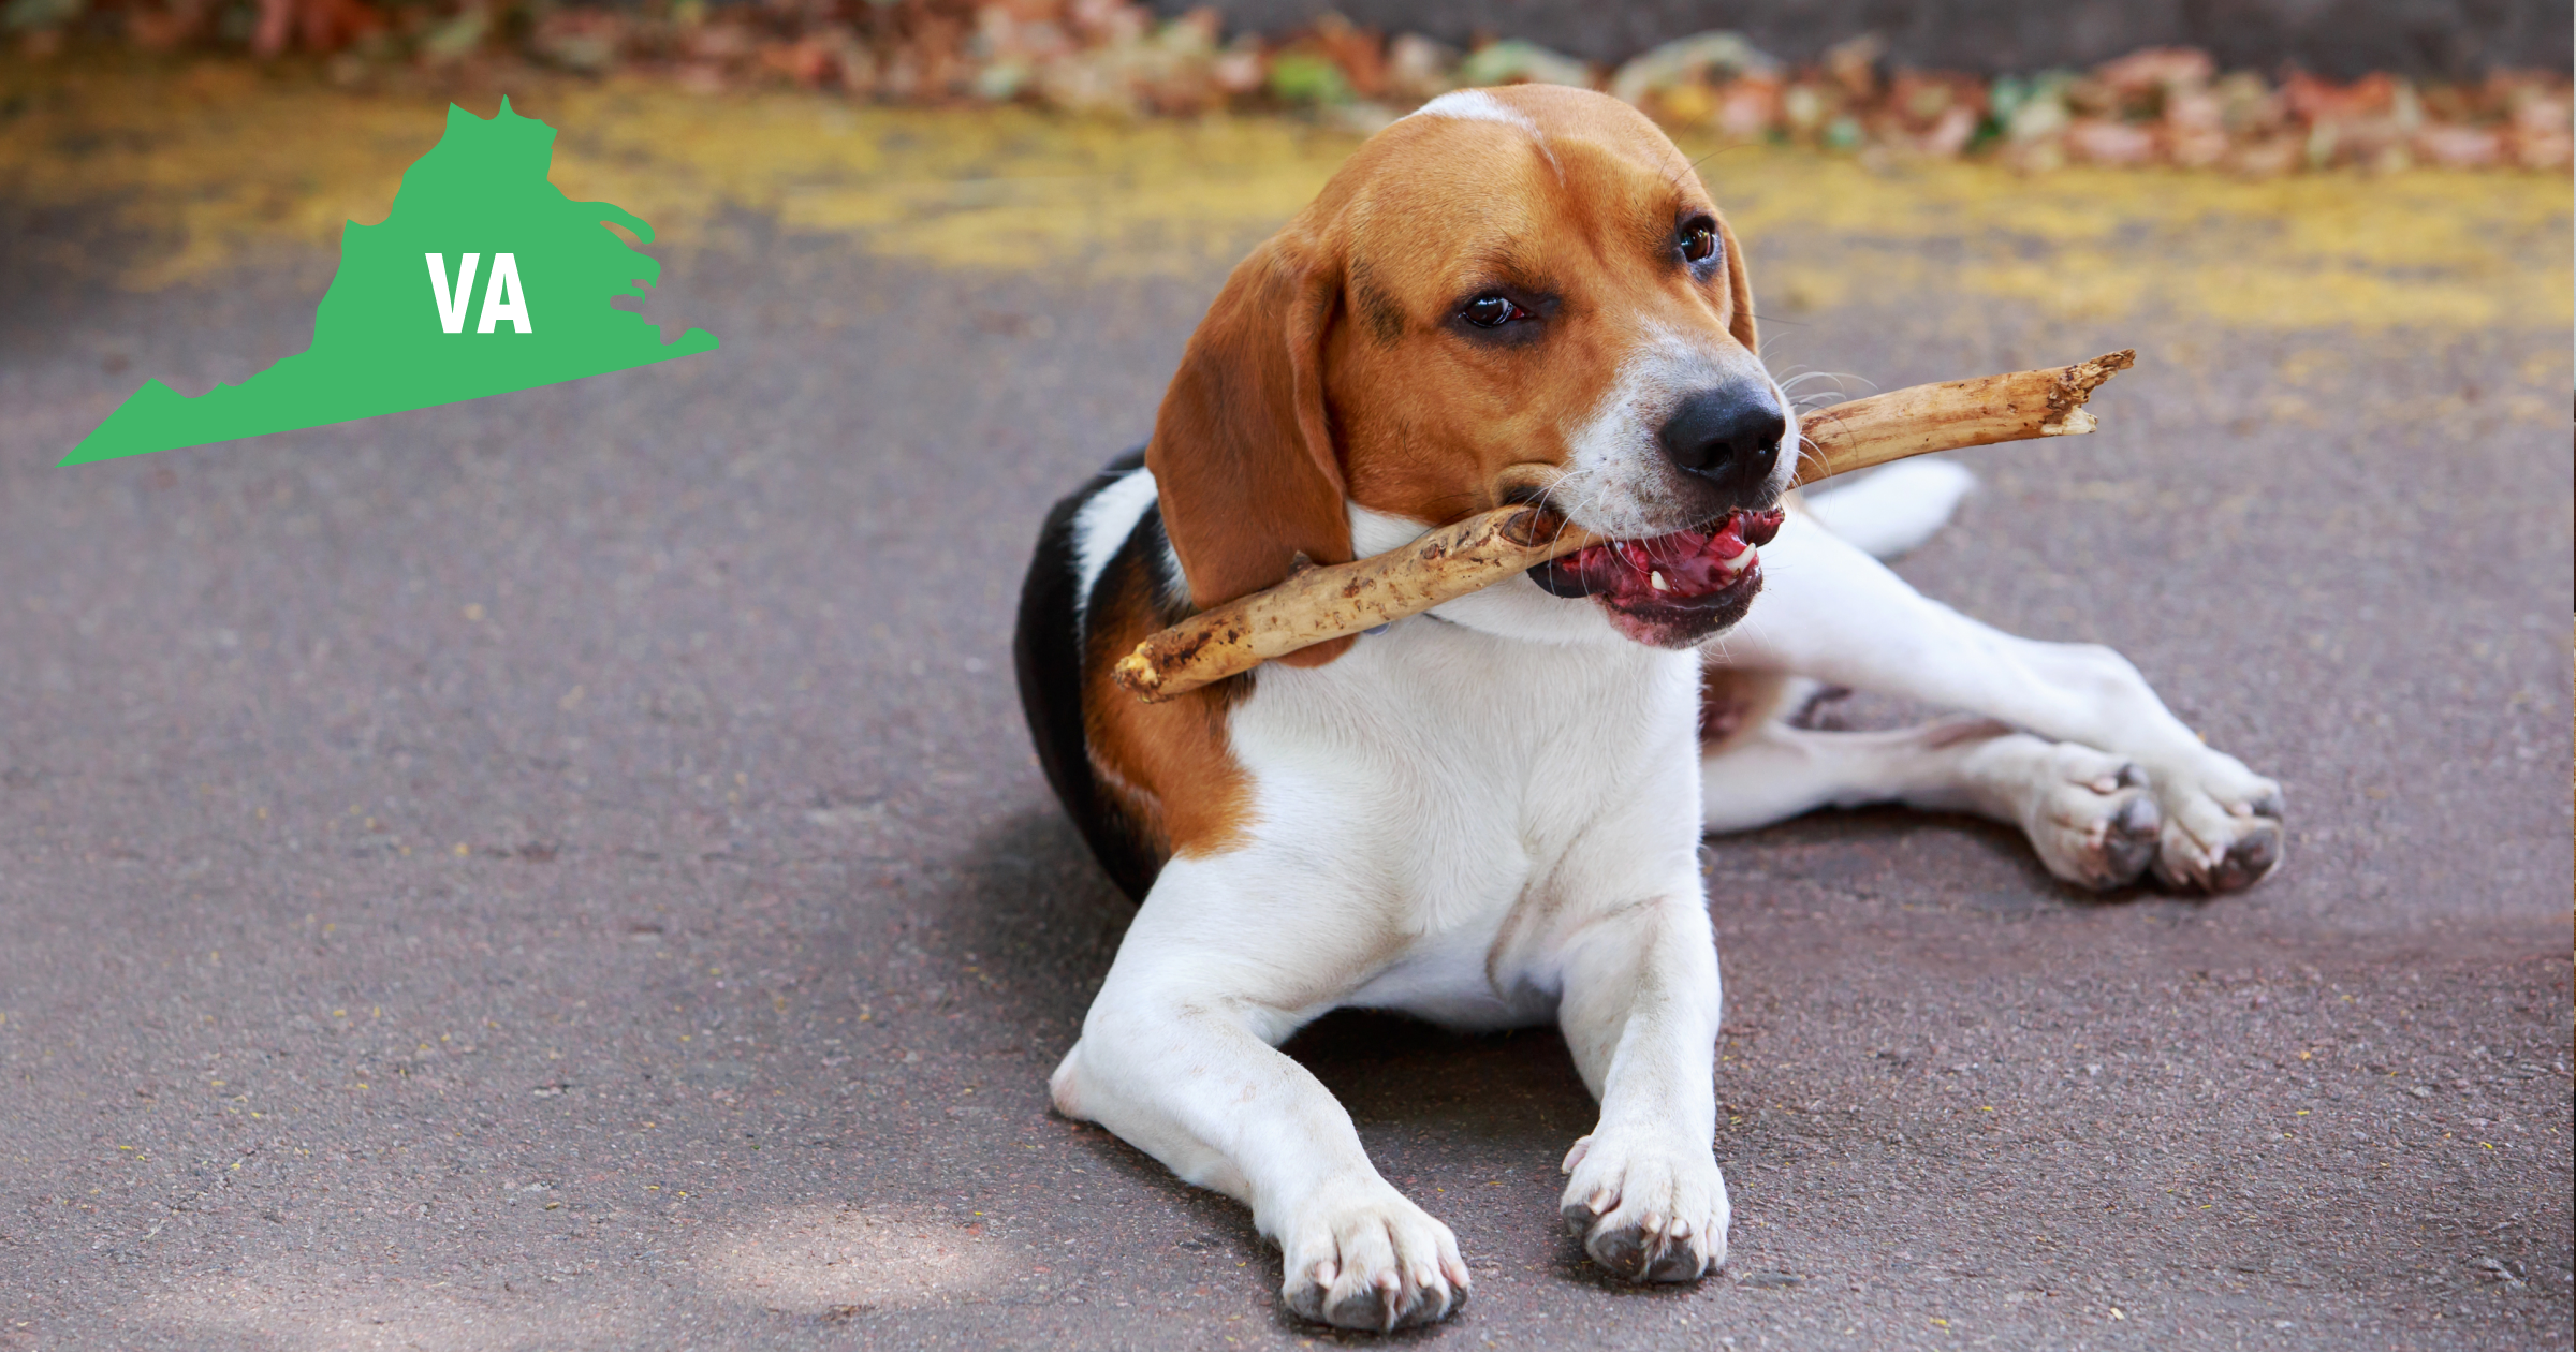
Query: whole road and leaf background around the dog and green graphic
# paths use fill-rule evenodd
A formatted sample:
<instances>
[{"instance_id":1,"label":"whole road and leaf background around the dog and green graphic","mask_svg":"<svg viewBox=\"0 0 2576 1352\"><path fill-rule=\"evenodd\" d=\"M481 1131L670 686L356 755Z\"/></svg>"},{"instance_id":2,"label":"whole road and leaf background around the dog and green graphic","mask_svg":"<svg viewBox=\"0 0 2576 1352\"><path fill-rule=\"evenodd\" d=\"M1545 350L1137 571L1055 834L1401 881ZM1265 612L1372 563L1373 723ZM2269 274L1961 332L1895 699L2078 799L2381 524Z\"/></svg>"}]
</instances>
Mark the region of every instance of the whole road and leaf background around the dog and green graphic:
<instances>
[{"instance_id":1,"label":"whole road and leaf background around the dog and green graphic","mask_svg":"<svg viewBox=\"0 0 2576 1352\"><path fill-rule=\"evenodd\" d=\"M1301 1056L1461 1347L2563 1347L2563 5L0 8L0 1347L1298 1347L1046 1113L1128 906L1028 752L1048 502L1458 85L1698 160L1829 399L2138 348L1929 595L2280 778L2215 904L1893 811L1710 845L1728 1275L1597 1280L1553 1033ZM52 469L312 340L453 100L719 353ZM1757 610L1759 618L1759 610ZM1855 698L1855 726L1919 711Z\"/></svg>"}]
</instances>

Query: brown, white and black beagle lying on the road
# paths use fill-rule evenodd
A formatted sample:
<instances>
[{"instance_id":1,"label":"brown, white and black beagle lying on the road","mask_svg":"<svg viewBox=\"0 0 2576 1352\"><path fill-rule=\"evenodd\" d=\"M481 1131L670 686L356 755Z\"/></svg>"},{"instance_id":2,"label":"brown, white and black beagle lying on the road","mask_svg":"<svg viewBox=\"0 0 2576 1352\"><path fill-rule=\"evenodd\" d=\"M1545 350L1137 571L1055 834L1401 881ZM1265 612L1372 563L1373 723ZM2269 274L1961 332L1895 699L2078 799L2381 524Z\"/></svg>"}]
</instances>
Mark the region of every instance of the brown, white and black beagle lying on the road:
<instances>
[{"instance_id":1,"label":"brown, white and black beagle lying on the road","mask_svg":"<svg viewBox=\"0 0 2576 1352\"><path fill-rule=\"evenodd\" d=\"M1278 1051L1334 1007L1553 1020L1600 1100L1564 1221L1631 1280L1726 1259L1703 832L1906 801L2014 822L2089 886L2226 891L2280 858L2280 791L2117 654L1996 634L1873 559L1960 471L1798 507L1795 446L1744 258L1672 142L1587 90L1463 90L1234 268L1151 440L1046 520L1020 695L1141 901L1054 1105L1249 1205L1296 1313L1399 1329L1471 1285ZM1164 703L1110 682L1298 559L1530 497L1618 543ZM1826 685L1971 716L1798 726Z\"/></svg>"}]
</instances>

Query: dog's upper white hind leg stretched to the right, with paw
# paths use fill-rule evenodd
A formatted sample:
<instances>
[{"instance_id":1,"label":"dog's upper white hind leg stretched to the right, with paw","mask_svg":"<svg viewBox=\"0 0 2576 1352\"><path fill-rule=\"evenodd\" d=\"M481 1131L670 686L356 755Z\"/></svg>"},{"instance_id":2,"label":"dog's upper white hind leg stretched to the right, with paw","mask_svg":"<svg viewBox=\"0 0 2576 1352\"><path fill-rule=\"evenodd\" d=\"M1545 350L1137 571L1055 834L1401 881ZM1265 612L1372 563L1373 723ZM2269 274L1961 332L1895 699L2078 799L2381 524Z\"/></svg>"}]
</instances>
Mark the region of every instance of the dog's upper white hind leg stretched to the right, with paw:
<instances>
[{"instance_id":1,"label":"dog's upper white hind leg stretched to the right, with paw","mask_svg":"<svg viewBox=\"0 0 2576 1352\"><path fill-rule=\"evenodd\" d=\"M2202 744L2117 652L1976 623L1795 512L1762 572L1762 600L1710 644L1713 664L1906 695L2136 762L2169 886L2236 891L2280 863L2280 785Z\"/></svg>"}]
</instances>

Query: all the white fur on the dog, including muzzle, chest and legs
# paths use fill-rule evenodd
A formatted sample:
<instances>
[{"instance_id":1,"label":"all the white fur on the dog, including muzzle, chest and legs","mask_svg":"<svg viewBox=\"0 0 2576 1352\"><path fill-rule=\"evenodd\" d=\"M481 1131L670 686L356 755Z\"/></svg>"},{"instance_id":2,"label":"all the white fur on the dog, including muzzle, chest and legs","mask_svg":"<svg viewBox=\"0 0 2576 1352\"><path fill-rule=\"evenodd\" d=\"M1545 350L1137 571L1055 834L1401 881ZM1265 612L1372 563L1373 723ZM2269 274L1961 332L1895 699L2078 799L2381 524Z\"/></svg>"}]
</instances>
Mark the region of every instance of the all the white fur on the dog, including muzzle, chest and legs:
<instances>
[{"instance_id":1,"label":"all the white fur on the dog, including muzzle, chest and legs","mask_svg":"<svg viewBox=\"0 0 2576 1352\"><path fill-rule=\"evenodd\" d=\"M1425 111L1443 103L1445 116L1499 108L1448 95ZM1625 361L1571 433L1566 515L1620 536L1685 525L1672 520L1685 507L1659 497L1654 427L1682 391L1741 379L1731 361L1674 335ZM1139 471L1084 507L1084 592L1151 484ZM1762 546L1767 587L1749 618L1703 652L1633 644L1597 603L1515 577L1324 667L1265 667L1226 726L1249 785L1242 840L1162 868L1056 1066L1056 1107L1244 1200L1280 1244L1293 1311L1425 1324L1468 1290L1455 1236L1376 1172L1342 1105L1278 1043L1334 1007L1466 1030L1553 1020L1600 1100L1561 1164L1566 1221L1631 1277L1716 1270L1728 1200L1713 1154L1721 986L1703 829L1865 801L1984 811L2089 886L2136 876L2148 855L2166 881L2208 883L2231 850L2277 832L2277 788L2202 747L2117 654L1978 626L1870 559L1919 543L1960 492L1963 471L1891 471L1819 494L1816 518L1790 512ZM1425 525L1352 507L1350 528L1360 554L1381 554ZM1770 677L1749 726L1708 755L1703 664L1754 688ZM2027 731L1783 724L1788 693L1819 682Z\"/></svg>"}]
</instances>

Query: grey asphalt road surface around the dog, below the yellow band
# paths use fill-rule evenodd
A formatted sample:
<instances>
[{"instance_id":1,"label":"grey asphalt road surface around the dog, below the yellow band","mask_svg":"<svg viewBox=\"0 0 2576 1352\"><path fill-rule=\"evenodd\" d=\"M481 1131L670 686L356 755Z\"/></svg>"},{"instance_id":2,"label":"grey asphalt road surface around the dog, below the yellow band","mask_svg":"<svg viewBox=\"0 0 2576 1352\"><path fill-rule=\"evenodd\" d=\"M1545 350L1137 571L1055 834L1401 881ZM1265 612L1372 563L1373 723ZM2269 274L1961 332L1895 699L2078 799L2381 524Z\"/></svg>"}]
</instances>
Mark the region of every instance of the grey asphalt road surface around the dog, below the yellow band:
<instances>
[{"instance_id":1,"label":"grey asphalt road surface around the dog, below the yellow band","mask_svg":"<svg viewBox=\"0 0 2576 1352\"><path fill-rule=\"evenodd\" d=\"M1368 1342L1046 1107L1128 909L1007 618L1213 270L732 221L675 278L716 355L59 471L330 276L23 263L95 227L0 237L0 1347ZM2287 865L2092 899L1965 819L1716 840L1736 1228L1687 1290L1561 1231L1553 1033L1324 1020L1291 1051L1476 1272L1401 1342L2571 1342L2566 330L2002 309L1927 273L1770 332L1883 386L2148 353L2089 443L1968 456L1904 572L2125 649L2287 785Z\"/></svg>"}]
</instances>

